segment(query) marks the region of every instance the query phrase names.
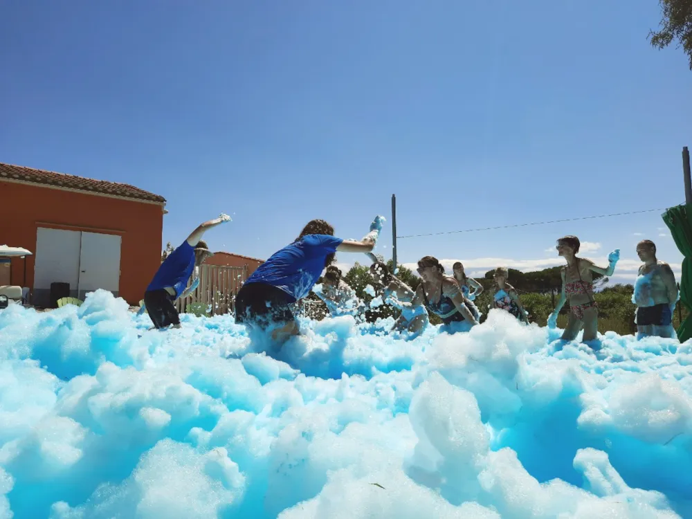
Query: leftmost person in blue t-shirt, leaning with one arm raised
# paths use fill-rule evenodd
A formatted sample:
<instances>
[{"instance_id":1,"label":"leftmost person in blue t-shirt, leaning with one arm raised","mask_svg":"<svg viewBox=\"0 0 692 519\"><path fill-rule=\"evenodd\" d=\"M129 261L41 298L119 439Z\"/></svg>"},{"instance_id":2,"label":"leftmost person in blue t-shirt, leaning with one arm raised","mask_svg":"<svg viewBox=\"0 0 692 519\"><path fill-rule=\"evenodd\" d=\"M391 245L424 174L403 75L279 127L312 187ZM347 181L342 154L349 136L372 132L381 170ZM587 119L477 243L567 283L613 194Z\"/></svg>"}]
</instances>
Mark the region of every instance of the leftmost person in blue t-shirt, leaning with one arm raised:
<instances>
[{"instance_id":1,"label":"leftmost person in blue t-shirt, leaning with one arm raised","mask_svg":"<svg viewBox=\"0 0 692 519\"><path fill-rule=\"evenodd\" d=\"M154 279L144 293L144 307L155 328L162 329L170 325L174 328L180 327L180 318L173 302L190 295L199 284L199 277L196 276L195 282L185 290L192 271L197 271L204 260L213 255L201 237L210 228L225 221L230 221L230 218L221 215L201 224L158 267Z\"/></svg>"}]
</instances>

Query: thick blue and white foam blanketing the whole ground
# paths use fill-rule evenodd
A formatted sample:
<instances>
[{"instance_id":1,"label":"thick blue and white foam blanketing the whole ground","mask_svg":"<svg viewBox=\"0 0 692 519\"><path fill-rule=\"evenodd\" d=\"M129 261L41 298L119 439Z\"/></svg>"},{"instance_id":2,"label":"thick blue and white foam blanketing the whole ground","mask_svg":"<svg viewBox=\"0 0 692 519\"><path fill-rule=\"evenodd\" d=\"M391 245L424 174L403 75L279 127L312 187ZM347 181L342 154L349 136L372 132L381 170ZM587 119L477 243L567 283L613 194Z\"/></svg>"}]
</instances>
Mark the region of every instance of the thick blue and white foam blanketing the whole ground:
<instances>
[{"instance_id":1,"label":"thick blue and white foam blanketing the whole ground","mask_svg":"<svg viewBox=\"0 0 692 519\"><path fill-rule=\"evenodd\" d=\"M0 311L0 518L692 517L692 343Z\"/></svg>"}]
</instances>

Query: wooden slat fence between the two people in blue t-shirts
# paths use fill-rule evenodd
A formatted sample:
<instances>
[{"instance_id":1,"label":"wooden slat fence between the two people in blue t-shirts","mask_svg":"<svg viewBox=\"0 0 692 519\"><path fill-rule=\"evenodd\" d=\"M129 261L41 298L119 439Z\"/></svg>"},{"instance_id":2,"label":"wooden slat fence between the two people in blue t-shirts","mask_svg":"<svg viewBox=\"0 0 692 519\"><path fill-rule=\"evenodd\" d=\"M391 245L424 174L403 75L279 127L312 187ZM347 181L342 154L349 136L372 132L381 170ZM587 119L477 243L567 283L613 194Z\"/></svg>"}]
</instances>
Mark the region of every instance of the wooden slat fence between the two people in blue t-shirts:
<instances>
[{"instance_id":1,"label":"wooden slat fence between the two people in blue t-shirts","mask_svg":"<svg viewBox=\"0 0 692 519\"><path fill-rule=\"evenodd\" d=\"M199 268L199 285L187 298L176 300L176 309L180 313L195 313L198 316L232 312L235 295L247 277L247 266L202 264Z\"/></svg>"}]
</instances>

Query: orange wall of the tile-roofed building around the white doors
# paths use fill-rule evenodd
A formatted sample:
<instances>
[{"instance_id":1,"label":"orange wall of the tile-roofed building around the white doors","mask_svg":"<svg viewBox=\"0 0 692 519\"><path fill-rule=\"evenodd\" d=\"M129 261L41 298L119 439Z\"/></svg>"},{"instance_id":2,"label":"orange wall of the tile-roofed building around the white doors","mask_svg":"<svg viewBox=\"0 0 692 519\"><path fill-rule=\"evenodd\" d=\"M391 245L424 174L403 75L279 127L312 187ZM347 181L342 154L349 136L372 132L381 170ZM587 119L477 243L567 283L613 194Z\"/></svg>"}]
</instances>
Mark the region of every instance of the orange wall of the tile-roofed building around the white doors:
<instances>
[{"instance_id":1,"label":"orange wall of the tile-roofed building around the white doors","mask_svg":"<svg viewBox=\"0 0 692 519\"><path fill-rule=\"evenodd\" d=\"M120 235L119 295L130 304L144 297L161 265L161 205L3 181L0 192L0 245L35 253L38 227ZM33 255L12 258L12 284L33 289Z\"/></svg>"}]
</instances>

